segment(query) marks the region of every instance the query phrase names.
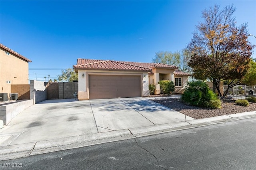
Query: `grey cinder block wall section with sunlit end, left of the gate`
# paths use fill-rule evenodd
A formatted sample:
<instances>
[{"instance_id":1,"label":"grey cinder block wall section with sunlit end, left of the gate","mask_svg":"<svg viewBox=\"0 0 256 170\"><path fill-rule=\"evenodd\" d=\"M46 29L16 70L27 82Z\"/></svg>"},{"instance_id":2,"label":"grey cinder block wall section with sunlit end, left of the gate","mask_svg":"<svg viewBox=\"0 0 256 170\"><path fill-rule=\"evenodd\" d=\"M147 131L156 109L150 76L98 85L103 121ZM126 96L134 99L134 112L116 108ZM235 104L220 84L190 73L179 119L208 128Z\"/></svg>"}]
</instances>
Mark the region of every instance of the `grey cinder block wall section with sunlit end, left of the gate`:
<instances>
[{"instance_id":1,"label":"grey cinder block wall section with sunlit end, left of the gate","mask_svg":"<svg viewBox=\"0 0 256 170\"><path fill-rule=\"evenodd\" d=\"M30 99L34 99L34 104L46 100L46 87L43 81L30 80Z\"/></svg>"}]
</instances>

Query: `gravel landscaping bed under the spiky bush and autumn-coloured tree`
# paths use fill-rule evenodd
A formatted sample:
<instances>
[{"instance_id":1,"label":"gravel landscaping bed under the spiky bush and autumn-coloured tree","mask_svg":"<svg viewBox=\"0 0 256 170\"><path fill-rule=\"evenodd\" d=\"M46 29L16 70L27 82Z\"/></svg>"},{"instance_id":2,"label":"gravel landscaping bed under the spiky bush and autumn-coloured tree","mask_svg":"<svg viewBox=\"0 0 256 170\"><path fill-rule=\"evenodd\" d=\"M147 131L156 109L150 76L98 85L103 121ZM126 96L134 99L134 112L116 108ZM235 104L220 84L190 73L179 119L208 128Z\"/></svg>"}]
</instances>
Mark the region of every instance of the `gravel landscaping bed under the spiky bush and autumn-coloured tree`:
<instances>
[{"instance_id":1,"label":"gravel landscaping bed under the spiky bush and autumn-coloured tree","mask_svg":"<svg viewBox=\"0 0 256 170\"><path fill-rule=\"evenodd\" d=\"M236 105L234 99L222 99L222 109L205 109L200 107L194 107L182 103L181 99L177 98L156 98L151 100L166 107L169 107L170 109L183 113L184 115L187 115L194 119L202 119L207 117L216 117L221 115L230 115L235 113L256 111L256 103L249 103L247 107L244 107Z\"/></svg>"}]
</instances>

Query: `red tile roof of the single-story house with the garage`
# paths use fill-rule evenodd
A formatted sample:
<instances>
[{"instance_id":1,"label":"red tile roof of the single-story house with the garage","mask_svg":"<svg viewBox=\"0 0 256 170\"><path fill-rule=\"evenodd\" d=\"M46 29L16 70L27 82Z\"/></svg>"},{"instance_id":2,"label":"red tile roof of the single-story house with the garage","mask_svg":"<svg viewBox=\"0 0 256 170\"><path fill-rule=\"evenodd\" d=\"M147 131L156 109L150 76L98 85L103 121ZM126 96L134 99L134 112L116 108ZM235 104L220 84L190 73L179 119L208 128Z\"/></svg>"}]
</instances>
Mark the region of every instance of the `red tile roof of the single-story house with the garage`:
<instances>
[{"instance_id":1,"label":"red tile roof of the single-story house with the garage","mask_svg":"<svg viewBox=\"0 0 256 170\"><path fill-rule=\"evenodd\" d=\"M112 61L97 59L77 59L75 69L98 69L98 70L124 70L124 71L152 71L153 68L178 69L174 65L162 63L138 63L129 61Z\"/></svg>"}]
</instances>

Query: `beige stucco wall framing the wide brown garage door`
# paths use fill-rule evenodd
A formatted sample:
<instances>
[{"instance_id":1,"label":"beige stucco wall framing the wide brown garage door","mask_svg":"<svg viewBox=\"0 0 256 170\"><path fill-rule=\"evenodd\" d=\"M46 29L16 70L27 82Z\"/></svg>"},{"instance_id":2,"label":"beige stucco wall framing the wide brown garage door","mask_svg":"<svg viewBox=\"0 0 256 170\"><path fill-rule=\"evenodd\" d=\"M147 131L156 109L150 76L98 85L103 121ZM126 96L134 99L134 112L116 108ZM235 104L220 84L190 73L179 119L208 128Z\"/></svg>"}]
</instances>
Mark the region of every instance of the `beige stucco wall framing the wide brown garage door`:
<instances>
[{"instance_id":1,"label":"beige stucco wall framing the wide brown garage door","mask_svg":"<svg viewBox=\"0 0 256 170\"><path fill-rule=\"evenodd\" d=\"M84 74L84 77L82 75ZM142 97L149 96L148 72L136 71L101 71L101 70L78 70L78 100L90 99L89 75L140 75L142 84Z\"/></svg>"}]
</instances>

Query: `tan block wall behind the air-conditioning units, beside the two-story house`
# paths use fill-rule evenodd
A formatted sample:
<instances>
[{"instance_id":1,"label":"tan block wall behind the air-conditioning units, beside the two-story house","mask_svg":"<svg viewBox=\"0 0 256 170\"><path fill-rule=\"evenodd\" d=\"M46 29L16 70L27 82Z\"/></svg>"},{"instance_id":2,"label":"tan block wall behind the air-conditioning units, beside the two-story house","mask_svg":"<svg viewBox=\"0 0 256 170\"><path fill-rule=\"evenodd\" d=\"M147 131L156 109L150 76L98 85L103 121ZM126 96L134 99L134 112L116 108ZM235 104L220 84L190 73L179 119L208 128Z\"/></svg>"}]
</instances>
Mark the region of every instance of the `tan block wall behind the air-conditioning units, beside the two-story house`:
<instances>
[{"instance_id":1,"label":"tan block wall behind the air-conditioning units, beside the two-story house","mask_svg":"<svg viewBox=\"0 0 256 170\"><path fill-rule=\"evenodd\" d=\"M18 93L18 100L30 99L30 85L11 85L11 93Z\"/></svg>"}]
</instances>

